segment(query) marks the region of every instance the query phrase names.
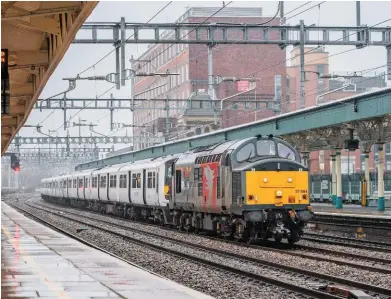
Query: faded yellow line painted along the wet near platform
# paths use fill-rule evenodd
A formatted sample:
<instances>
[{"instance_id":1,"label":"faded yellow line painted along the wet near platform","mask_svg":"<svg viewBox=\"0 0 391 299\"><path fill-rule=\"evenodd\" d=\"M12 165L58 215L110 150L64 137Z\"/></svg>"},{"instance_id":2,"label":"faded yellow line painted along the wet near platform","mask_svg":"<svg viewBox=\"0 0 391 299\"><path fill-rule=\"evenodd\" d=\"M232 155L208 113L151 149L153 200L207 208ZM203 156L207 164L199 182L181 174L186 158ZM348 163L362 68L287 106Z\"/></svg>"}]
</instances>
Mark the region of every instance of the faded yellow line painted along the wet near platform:
<instances>
[{"instance_id":1,"label":"faded yellow line painted along the wet near platform","mask_svg":"<svg viewBox=\"0 0 391 299\"><path fill-rule=\"evenodd\" d=\"M18 226L21 229L23 229L20 225L18 225ZM15 249L15 251L19 251L22 254L22 258L28 264L32 265L32 267L37 271L39 278L48 287L49 290L55 292L58 298L64 298L64 299L72 298L65 291L62 291L61 287L58 284L56 284L53 281L49 281L49 276L46 274L46 272L39 266L39 264L37 264L35 262L35 260L25 250L18 248L18 246L16 245L15 239L13 238L11 233L8 231L8 229L4 225L1 225L1 230L6 235L8 241L12 244L12 247Z\"/></svg>"}]
</instances>

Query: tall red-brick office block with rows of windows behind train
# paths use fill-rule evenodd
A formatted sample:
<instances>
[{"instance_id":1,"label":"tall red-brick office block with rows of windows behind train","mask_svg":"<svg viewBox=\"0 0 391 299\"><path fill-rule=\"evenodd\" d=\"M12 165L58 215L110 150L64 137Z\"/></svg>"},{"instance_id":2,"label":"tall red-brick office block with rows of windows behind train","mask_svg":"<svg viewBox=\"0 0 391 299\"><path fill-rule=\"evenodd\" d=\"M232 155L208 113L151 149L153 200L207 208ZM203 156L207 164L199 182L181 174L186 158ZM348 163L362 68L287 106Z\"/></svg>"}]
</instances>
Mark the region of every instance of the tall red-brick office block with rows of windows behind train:
<instances>
[{"instance_id":1,"label":"tall red-brick office block with rows of windows behind train","mask_svg":"<svg viewBox=\"0 0 391 299\"><path fill-rule=\"evenodd\" d=\"M219 8L216 7L192 7L183 14L177 22L183 23L200 23L213 15ZM263 23L270 20L270 17L262 16L262 8L256 7L226 7L210 18L207 22L222 23ZM269 24L279 24L276 18ZM189 30L190 31L190 30ZM161 38L173 35L173 32L165 32ZM181 37L187 32L181 32ZM189 36L195 35L195 31ZM202 35L206 32L200 32ZM216 32L216 38L219 38ZM240 32L229 33L229 37L237 39ZM270 32L270 37L277 32ZM235 36L237 35L237 37ZM184 37L186 39L187 37ZM286 51L281 50L277 45L217 45L213 47L213 75L223 77L249 77L256 73L255 77L259 78L257 87L248 94L241 95L241 99L249 100L279 100L284 96L286 67L281 61L286 59ZM166 72L169 70L173 73L179 73L179 76L167 77L137 77L135 83L135 94L145 90L150 90L140 94L140 98L166 98L187 100L192 93L199 93L208 90L208 57L207 46L197 44L178 44L164 45L157 44L151 46L138 60L151 60L150 63L135 63L135 69L140 72ZM271 65L278 64L274 68ZM265 69L265 70L264 70ZM151 90L152 89L152 90ZM227 96L238 93L234 83L223 82L216 88L216 100L221 100ZM164 103L157 102L156 108L163 108ZM272 105L264 102L251 103L247 105L247 111L223 111L221 125L223 127L242 124L273 115ZM254 109L261 109L254 113ZM184 112L184 102L171 105L169 116L180 118ZM134 112L135 125L147 125L147 129L135 129L135 136L157 135L165 132L165 119L167 111L160 110L136 110ZM210 117L210 115L207 115ZM228 121L229 120L229 121ZM220 120L219 120L220 123ZM175 129L176 123L170 122L171 131ZM142 149L149 144L135 145L136 149Z\"/></svg>"}]
</instances>

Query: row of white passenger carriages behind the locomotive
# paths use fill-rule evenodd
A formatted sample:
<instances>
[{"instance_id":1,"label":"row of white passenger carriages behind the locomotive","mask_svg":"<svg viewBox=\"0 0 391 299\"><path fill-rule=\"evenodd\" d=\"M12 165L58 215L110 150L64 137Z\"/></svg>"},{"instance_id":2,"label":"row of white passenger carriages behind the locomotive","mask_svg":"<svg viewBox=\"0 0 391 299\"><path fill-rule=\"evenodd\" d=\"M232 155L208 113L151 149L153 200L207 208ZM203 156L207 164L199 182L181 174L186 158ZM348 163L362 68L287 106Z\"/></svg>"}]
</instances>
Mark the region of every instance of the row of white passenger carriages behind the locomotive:
<instances>
[{"instance_id":1,"label":"row of white passenger carriages behind the locomotive","mask_svg":"<svg viewBox=\"0 0 391 299\"><path fill-rule=\"evenodd\" d=\"M180 154L106 166L45 179L47 197L98 211L155 217L172 196L172 164ZM155 211L155 212L154 212ZM159 217L163 217L160 213ZM159 218L160 219L160 218Z\"/></svg>"}]
</instances>

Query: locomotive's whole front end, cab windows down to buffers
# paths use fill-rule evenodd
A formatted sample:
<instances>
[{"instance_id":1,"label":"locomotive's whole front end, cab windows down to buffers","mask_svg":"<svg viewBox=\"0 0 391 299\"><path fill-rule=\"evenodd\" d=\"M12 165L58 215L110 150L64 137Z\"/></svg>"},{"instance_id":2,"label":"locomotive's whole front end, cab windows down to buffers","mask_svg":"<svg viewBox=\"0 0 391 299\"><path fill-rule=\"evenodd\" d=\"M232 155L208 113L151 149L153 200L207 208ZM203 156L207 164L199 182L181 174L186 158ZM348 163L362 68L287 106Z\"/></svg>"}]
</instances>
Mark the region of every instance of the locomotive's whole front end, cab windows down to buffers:
<instances>
[{"instance_id":1,"label":"locomotive's whole front end, cab windows down to buffers","mask_svg":"<svg viewBox=\"0 0 391 299\"><path fill-rule=\"evenodd\" d=\"M234 221L236 237L300 240L313 213L308 168L299 153L287 142L268 136L249 140L235 154L233 200L237 198L236 211L242 218Z\"/></svg>"}]
</instances>

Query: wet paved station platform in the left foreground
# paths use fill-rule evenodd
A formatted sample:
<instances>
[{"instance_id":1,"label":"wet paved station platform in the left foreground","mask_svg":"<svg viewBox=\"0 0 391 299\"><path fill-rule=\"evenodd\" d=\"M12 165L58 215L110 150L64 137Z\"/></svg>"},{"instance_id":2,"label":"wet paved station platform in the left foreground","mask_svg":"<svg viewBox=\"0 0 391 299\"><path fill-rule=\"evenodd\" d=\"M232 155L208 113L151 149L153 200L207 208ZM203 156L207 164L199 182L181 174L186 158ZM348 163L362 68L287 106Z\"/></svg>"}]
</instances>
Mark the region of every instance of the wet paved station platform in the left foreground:
<instances>
[{"instance_id":1,"label":"wet paved station platform in the left foreground","mask_svg":"<svg viewBox=\"0 0 391 299\"><path fill-rule=\"evenodd\" d=\"M210 299L1 203L1 298Z\"/></svg>"}]
</instances>

